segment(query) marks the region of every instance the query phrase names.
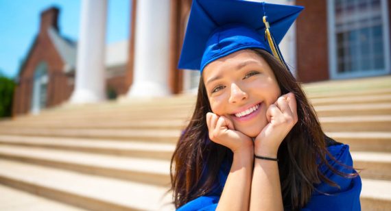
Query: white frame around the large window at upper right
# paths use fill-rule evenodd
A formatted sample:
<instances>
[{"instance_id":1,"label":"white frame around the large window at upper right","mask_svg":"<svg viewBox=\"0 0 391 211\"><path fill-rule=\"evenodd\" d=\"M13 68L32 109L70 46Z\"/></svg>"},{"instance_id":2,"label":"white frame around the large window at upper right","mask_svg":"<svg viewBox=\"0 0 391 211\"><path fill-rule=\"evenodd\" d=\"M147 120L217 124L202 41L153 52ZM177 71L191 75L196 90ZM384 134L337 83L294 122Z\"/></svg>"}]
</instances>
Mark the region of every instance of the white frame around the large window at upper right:
<instances>
[{"instance_id":1,"label":"white frame around the large window at upper right","mask_svg":"<svg viewBox=\"0 0 391 211\"><path fill-rule=\"evenodd\" d=\"M382 70L359 71L350 73L337 73L337 51L336 51L336 34L335 34L335 0L327 1L328 16L328 39L329 39L329 74L330 79L346 79L350 77L370 77L375 75L386 75L391 73L391 53L390 53L390 29L387 0L381 0L381 18L383 29L384 43L384 61L385 68Z\"/></svg>"}]
</instances>

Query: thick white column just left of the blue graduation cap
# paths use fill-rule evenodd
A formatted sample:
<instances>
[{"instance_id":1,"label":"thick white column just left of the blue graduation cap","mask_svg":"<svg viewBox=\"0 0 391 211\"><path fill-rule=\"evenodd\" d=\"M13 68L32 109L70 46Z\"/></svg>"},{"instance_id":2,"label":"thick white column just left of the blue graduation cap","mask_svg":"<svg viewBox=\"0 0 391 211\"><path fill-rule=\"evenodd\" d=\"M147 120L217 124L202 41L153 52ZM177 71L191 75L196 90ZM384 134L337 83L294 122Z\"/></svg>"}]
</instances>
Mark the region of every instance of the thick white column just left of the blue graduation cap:
<instances>
[{"instance_id":1,"label":"thick white column just left of the blue graduation cap","mask_svg":"<svg viewBox=\"0 0 391 211\"><path fill-rule=\"evenodd\" d=\"M134 77L128 97L169 95L169 0L137 1Z\"/></svg>"}]
</instances>

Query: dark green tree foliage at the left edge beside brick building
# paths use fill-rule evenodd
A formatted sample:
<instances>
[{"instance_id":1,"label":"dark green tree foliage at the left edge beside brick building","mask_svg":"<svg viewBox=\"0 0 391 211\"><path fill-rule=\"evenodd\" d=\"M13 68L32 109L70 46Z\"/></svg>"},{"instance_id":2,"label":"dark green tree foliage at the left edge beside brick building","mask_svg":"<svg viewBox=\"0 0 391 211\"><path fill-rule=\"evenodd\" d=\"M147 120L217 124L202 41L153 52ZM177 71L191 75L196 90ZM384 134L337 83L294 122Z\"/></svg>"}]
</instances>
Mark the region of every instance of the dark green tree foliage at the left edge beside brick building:
<instances>
[{"instance_id":1,"label":"dark green tree foliage at the left edge beside brick building","mask_svg":"<svg viewBox=\"0 0 391 211\"><path fill-rule=\"evenodd\" d=\"M15 82L0 73L0 117L12 115Z\"/></svg>"}]
</instances>

